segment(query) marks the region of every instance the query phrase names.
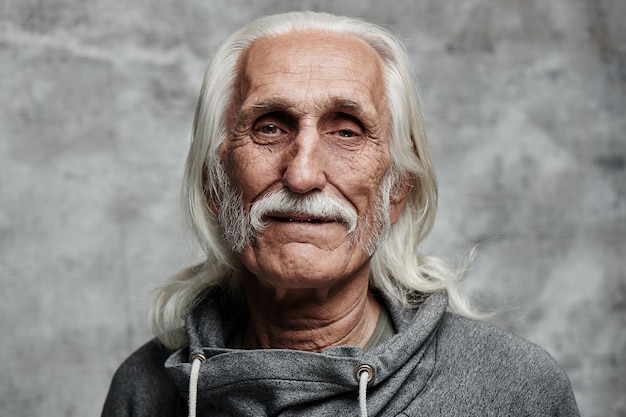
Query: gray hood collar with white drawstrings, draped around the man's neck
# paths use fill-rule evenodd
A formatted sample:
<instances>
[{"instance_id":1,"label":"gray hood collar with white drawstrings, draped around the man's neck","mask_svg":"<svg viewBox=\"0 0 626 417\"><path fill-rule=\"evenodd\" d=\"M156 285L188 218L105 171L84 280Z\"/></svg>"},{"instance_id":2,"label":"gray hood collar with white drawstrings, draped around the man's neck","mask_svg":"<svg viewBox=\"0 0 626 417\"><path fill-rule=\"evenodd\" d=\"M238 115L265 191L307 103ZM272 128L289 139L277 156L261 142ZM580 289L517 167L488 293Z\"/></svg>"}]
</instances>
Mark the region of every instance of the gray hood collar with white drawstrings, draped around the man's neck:
<instances>
[{"instance_id":1,"label":"gray hood collar with white drawstrings, draped around the man's neck","mask_svg":"<svg viewBox=\"0 0 626 417\"><path fill-rule=\"evenodd\" d=\"M189 347L174 352L165 368L184 397L197 377L198 416L345 416L359 414L357 370L369 365L368 414L397 415L433 371L434 334L447 296L433 294L416 309L385 303L397 333L369 352L349 346L322 353L239 350L225 348L225 340L246 312L214 292L187 317ZM203 356L194 364L197 375L192 375L193 354Z\"/></svg>"}]
</instances>

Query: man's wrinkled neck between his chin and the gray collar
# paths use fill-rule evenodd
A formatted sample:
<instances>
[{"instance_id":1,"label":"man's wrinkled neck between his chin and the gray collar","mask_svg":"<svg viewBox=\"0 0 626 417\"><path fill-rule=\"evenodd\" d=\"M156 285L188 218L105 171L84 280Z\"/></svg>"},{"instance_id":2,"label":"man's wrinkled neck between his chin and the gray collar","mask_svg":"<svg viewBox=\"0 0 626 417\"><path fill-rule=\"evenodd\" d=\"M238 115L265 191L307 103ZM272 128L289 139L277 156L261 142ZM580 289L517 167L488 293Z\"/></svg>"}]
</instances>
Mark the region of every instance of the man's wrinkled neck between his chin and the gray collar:
<instances>
[{"instance_id":1,"label":"man's wrinkled neck between his chin and the gray collar","mask_svg":"<svg viewBox=\"0 0 626 417\"><path fill-rule=\"evenodd\" d=\"M333 346L363 347L371 337L381 306L365 285L280 290L245 280L250 315L246 349L321 352ZM356 286L356 288L355 288Z\"/></svg>"}]
</instances>

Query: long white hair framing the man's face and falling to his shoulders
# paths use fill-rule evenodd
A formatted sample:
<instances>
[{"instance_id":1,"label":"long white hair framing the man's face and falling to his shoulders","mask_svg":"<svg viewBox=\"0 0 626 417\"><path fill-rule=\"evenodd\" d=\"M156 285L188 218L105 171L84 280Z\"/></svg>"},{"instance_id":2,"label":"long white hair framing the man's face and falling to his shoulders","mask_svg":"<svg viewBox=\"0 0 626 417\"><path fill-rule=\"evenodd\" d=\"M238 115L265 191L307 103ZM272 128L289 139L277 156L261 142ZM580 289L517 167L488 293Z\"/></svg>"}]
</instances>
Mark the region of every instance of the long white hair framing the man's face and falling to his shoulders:
<instances>
[{"instance_id":1,"label":"long white hair framing the man's face and falling to his shoulders","mask_svg":"<svg viewBox=\"0 0 626 417\"><path fill-rule=\"evenodd\" d=\"M222 238L208 201L219 198L225 175L218 169L217 148L227 135L228 109L235 97L241 54L260 38L292 32L347 34L367 42L382 58L391 114L389 140L398 178L410 178L412 191L392 225L388 238L371 260L370 285L407 307L433 292L448 293L449 309L475 316L459 289L462 270L420 254L417 248L430 232L437 207L437 183L426 136L415 76L403 45L387 30L362 20L326 13L294 12L258 19L231 35L219 48L204 75L193 124L182 192L183 211L196 234L205 260L170 279L157 293L151 318L154 333L170 348L184 346L180 330L186 313L212 287L236 289L237 257ZM213 200L218 201L218 200Z\"/></svg>"}]
</instances>

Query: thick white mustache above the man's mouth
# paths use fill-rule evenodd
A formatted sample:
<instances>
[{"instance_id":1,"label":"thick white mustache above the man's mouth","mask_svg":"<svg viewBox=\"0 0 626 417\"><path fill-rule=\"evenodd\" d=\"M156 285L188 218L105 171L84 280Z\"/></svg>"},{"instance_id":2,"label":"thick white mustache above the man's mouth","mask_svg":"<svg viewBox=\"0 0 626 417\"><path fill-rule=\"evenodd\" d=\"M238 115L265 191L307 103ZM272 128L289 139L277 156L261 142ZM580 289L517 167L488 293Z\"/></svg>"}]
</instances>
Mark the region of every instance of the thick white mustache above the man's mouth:
<instances>
[{"instance_id":1,"label":"thick white mustache above the man's mouth","mask_svg":"<svg viewBox=\"0 0 626 417\"><path fill-rule=\"evenodd\" d=\"M250 226L256 233L267 226L264 218L274 214L294 214L319 219L333 219L344 224L347 233L356 230L356 210L338 197L314 192L296 194L288 189L269 193L250 207Z\"/></svg>"}]
</instances>

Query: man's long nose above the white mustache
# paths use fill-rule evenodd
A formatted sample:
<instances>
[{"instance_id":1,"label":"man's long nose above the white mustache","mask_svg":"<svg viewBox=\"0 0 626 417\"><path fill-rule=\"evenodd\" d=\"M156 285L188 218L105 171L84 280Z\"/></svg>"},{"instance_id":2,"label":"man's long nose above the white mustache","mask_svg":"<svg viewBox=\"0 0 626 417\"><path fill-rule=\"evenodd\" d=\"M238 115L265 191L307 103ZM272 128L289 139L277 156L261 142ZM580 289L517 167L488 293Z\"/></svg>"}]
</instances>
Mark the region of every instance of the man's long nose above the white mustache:
<instances>
[{"instance_id":1,"label":"man's long nose above the white mustache","mask_svg":"<svg viewBox=\"0 0 626 417\"><path fill-rule=\"evenodd\" d=\"M324 154L317 128L302 127L289 146L283 184L300 194L323 190L326 185Z\"/></svg>"}]
</instances>

